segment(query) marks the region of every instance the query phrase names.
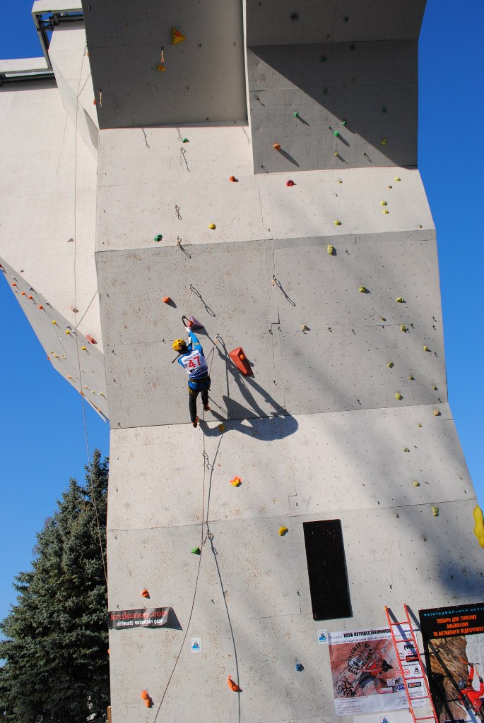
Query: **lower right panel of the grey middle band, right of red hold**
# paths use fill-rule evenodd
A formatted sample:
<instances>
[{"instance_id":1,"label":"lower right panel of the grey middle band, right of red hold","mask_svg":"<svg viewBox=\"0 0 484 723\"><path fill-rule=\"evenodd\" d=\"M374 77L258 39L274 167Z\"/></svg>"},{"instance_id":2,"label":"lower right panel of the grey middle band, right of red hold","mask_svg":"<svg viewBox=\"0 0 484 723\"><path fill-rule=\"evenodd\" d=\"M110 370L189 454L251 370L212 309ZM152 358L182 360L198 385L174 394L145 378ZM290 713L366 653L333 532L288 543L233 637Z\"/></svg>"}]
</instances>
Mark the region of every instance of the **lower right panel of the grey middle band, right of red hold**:
<instances>
[{"instance_id":1,"label":"lower right panel of the grey middle band, right of red hold","mask_svg":"<svg viewBox=\"0 0 484 723\"><path fill-rule=\"evenodd\" d=\"M423 351L425 342L432 351ZM446 401L441 324L430 331L415 325L408 333L399 325L287 332L281 348L290 414Z\"/></svg>"}]
</instances>

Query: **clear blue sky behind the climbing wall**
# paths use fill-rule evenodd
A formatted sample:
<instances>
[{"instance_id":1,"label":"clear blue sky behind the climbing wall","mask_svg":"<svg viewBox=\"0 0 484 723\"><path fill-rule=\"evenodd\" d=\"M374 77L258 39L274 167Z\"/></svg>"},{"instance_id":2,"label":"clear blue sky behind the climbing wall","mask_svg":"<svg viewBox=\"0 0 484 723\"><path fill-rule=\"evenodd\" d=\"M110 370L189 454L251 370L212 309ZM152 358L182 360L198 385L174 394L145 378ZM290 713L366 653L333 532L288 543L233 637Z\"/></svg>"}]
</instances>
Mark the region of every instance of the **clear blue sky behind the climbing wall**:
<instances>
[{"instance_id":1,"label":"clear blue sky behind the climbing wall","mask_svg":"<svg viewBox=\"0 0 484 723\"><path fill-rule=\"evenodd\" d=\"M0 57L41 56L32 0L7 5ZM419 168L437 228L449 401L484 505L484 5L428 0L420 35ZM6 35L8 33L8 36ZM382 69L382 74L385 70ZM35 532L86 463L80 395L46 359L0 279L0 618L11 582L30 565ZM86 405L89 443L109 451L109 429Z\"/></svg>"}]
</instances>

